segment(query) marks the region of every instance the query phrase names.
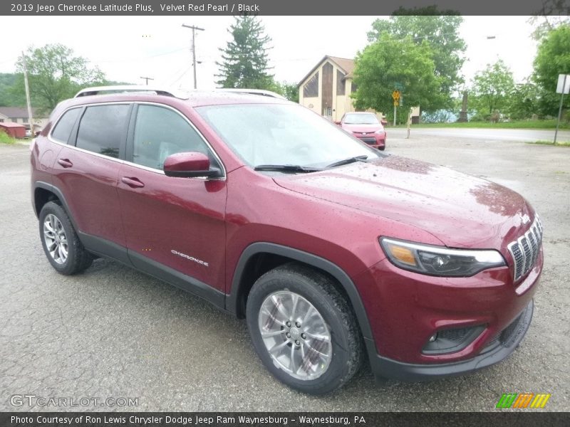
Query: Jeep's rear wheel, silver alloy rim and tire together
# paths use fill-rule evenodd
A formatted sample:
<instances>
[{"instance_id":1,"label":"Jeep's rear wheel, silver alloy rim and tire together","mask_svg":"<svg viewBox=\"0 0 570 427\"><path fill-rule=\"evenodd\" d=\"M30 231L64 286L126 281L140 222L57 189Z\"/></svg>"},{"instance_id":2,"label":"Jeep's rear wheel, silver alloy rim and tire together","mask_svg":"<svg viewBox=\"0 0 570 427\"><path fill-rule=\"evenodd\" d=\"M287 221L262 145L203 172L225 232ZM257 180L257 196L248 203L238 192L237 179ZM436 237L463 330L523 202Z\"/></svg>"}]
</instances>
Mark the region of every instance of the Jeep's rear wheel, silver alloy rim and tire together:
<instances>
[{"instance_id":1,"label":"Jeep's rear wheel, silver alloy rim and tire together","mask_svg":"<svg viewBox=\"0 0 570 427\"><path fill-rule=\"evenodd\" d=\"M39 216L41 244L49 262L58 273L72 275L86 270L93 257L83 248L66 211L48 201Z\"/></svg>"}]
</instances>

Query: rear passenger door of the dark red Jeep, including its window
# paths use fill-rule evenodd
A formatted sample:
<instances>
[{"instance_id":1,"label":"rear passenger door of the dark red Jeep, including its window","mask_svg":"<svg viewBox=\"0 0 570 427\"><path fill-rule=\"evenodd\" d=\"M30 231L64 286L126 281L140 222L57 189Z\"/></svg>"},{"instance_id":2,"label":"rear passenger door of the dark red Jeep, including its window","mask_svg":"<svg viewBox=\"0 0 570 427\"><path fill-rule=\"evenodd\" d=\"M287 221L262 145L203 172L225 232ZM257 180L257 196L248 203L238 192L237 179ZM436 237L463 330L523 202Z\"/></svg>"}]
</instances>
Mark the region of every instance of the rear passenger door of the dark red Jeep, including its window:
<instances>
[{"instance_id":1,"label":"rear passenger door of the dark red Jeep, including its window","mask_svg":"<svg viewBox=\"0 0 570 427\"><path fill-rule=\"evenodd\" d=\"M89 248L125 246L117 184L131 108L129 103L83 108L54 164L53 184L62 191Z\"/></svg>"}]
</instances>

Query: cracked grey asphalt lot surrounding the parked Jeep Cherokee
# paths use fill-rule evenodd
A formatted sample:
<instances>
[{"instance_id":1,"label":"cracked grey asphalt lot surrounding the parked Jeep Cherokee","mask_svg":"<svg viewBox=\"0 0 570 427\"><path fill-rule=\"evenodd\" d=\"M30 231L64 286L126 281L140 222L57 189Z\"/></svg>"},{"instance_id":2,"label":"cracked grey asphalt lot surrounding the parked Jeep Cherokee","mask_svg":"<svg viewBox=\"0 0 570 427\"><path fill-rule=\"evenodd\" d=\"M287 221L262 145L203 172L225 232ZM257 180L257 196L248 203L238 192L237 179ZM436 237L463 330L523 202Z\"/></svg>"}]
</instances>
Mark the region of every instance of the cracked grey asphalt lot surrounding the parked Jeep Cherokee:
<instances>
[{"instance_id":1,"label":"cracked grey asphalt lot surrounding the parked Jeep Cherokee","mask_svg":"<svg viewBox=\"0 0 570 427\"><path fill-rule=\"evenodd\" d=\"M0 411L493 411L503 393L549 393L570 407L570 149L388 129L386 152L482 176L541 214L545 263L534 320L509 359L470 376L376 385L363 369L341 391L306 396L273 379L242 320L109 260L66 277L38 238L29 150L0 144ZM138 406L14 406L14 395L138 398ZM74 399L74 400L71 400Z\"/></svg>"}]
</instances>

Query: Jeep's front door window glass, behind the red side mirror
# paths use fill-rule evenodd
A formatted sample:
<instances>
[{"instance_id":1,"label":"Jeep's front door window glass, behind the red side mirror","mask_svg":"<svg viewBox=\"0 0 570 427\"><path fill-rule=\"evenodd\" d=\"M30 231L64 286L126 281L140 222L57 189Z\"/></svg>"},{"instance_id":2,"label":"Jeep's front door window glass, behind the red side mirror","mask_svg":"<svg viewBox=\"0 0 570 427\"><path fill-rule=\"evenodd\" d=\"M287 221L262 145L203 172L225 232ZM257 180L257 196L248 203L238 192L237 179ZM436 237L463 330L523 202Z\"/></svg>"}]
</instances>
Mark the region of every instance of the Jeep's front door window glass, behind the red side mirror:
<instances>
[{"instance_id":1,"label":"Jeep's front door window glass, behind the red side mirror","mask_svg":"<svg viewBox=\"0 0 570 427\"><path fill-rule=\"evenodd\" d=\"M155 105L139 105L133 141L133 162L162 169L170 154L202 152L213 158L199 134L177 112Z\"/></svg>"}]
</instances>

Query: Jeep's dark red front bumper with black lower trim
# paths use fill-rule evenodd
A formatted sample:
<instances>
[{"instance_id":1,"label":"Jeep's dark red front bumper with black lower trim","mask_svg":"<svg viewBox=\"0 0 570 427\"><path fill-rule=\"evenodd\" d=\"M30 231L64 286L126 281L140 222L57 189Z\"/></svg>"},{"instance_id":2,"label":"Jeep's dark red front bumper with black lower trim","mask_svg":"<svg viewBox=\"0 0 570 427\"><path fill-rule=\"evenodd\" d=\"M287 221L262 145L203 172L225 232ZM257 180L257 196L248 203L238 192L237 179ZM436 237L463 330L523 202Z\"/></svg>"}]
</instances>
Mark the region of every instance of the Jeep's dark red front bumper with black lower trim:
<instances>
[{"instance_id":1,"label":"Jeep's dark red front bumper with black lower trim","mask_svg":"<svg viewBox=\"0 0 570 427\"><path fill-rule=\"evenodd\" d=\"M375 375L420 381L466 374L509 356L532 319L542 263L540 251L517 283L507 266L469 278L440 278L388 260L358 275L354 283L371 327L366 347ZM445 345L432 346L434 335L433 344ZM446 343L443 336L451 338Z\"/></svg>"}]
</instances>

